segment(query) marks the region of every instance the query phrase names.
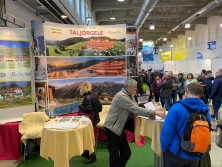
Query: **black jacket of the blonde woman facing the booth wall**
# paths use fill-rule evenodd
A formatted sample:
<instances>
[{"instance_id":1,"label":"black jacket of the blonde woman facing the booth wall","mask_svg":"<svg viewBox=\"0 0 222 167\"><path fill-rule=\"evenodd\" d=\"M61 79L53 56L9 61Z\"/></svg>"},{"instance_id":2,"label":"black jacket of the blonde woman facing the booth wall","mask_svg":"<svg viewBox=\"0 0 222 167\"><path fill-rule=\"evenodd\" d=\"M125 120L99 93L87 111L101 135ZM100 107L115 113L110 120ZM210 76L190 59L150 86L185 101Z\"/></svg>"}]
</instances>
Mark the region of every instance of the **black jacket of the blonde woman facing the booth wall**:
<instances>
[{"instance_id":1,"label":"black jacket of the blonde woman facing the booth wall","mask_svg":"<svg viewBox=\"0 0 222 167\"><path fill-rule=\"evenodd\" d=\"M100 103L97 96L91 92L85 93L83 97L84 99L82 104L79 105L79 109L85 113L94 112L92 123L93 126L96 126L96 124L100 122L99 112L102 111L102 104Z\"/></svg>"}]
</instances>

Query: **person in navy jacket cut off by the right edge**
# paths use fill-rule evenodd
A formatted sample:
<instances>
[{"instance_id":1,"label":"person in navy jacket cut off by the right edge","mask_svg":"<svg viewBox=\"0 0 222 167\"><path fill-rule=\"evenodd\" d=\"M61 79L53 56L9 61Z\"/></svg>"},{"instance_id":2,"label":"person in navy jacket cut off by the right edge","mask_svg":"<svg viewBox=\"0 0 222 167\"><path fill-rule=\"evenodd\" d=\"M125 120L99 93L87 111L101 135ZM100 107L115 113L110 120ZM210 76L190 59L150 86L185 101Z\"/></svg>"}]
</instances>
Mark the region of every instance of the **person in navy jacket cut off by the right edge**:
<instances>
[{"instance_id":1,"label":"person in navy jacket cut off by the right edge","mask_svg":"<svg viewBox=\"0 0 222 167\"><path fill-rule=\"evenodd\" d=\"M222 69L216 71L216 78L214 80L212 90L209 96L209 101L212 99L212 104L214 107L214 114L216 120L218 121L218 110L221 106L222 100Z\"/></svg>"}]
</instances>

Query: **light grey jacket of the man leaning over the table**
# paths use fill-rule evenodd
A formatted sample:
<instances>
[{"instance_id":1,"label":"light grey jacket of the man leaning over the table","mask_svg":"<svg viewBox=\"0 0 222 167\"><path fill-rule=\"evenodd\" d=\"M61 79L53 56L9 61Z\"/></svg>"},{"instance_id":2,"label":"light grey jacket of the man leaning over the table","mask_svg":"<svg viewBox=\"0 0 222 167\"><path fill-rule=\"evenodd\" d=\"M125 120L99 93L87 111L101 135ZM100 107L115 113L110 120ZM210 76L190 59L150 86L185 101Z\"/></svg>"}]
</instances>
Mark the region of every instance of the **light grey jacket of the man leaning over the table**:
<instances>
[{"instance_id":1,"label":"light grey jacket of the man leaning over the table","mask_svg":"<svg viewBox=\"0 0 222 167\"><path fill-rule=\"evenodd\" d=\"M131 99L126 90L122 89L112 100L104 126L120 136L129 117L129 112L145 117L155 114L153 110L139 107L135 99Z\"/></svg>"}]
</instances>

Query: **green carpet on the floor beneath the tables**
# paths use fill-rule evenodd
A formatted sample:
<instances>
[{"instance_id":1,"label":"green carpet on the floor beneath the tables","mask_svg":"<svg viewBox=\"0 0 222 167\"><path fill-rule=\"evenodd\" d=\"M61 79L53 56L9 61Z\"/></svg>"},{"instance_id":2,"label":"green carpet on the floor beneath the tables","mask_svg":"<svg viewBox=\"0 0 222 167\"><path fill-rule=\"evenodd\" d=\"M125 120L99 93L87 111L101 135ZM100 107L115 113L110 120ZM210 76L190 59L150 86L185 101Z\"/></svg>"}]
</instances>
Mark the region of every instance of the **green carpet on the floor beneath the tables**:
<instances>
[{"instance_id":1,"label":"green carpet on the floor beneath the tables","mask_svg":"<svg viewBox=\"0 0 222 167\"><path fill-rule=\"evenodd\" d=\"M152 167L153 151L150 148L151 139L146 138L146 145L138 147L135 143L129 143L132 155L126 164L126 167ZM75 156L73 158L74 167L109 167L109 154L107 143L99 142L98 148L95 149L97 161L92 164L84 164L85 158ZM17 167L53 167L53 161L47 161L41 158L39 154L29 154L25 162L21 162Z\"/></svg>"}]
</instances>

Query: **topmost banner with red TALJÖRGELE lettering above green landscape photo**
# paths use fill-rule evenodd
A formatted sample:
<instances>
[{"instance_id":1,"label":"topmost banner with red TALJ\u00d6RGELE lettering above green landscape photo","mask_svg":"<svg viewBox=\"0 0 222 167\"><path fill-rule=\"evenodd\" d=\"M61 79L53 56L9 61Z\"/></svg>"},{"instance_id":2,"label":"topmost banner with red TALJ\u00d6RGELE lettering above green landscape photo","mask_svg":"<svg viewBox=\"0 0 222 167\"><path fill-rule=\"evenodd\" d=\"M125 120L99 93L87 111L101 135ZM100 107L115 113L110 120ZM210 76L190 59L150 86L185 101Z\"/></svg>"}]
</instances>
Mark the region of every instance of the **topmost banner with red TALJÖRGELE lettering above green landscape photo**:
<instances>
[{"instance_id":1,"label":"topmost banner with red TALJ\u00d6RGELE lettering above green landscape photo","mask_svg":"<svg viewBox=\"0 0 222 167\"><path fill-rule=\"evenodd\" d=\"M44 23L46 56L125 55L126 25Z\"/></svg>"}]
</instances>

